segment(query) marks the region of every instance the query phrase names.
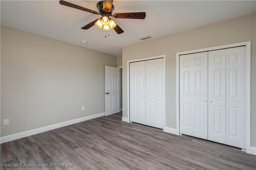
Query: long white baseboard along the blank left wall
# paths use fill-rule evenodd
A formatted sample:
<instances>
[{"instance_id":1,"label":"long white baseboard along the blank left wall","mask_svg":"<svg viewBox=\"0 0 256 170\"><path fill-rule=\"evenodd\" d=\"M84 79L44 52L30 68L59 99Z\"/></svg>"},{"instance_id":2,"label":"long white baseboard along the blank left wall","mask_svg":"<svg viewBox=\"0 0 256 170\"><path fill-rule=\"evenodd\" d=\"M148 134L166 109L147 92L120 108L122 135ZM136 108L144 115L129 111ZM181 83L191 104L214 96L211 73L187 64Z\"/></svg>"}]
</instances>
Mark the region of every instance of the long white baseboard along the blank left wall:
<instances>
[{"instance_id":1,"label":"long white baseboard along the blank left wall","mask_svg":"<svg viewBox=\"0 0 256 170\"><path fill-rule=\"evenodd\" d=\"M73 120L66 121L66 122L56 123L54 125L49 125L49 126L46 126L46 127L40 127L40 128L35 128L35 129L32 129L32 130L27 130L27 131L24 131L24 132L20 132L20 133L10 134L8 136L1 137L0 138L0 143L9 142L9 141L16 140L16 139L19 139L19 138L24 138L26 136L31 136L33 134L46 132L48 130L52 130L52 129L55 129L55 128L60 128L60 127L72 125L72 124L75 124L75 123L87 121L87 120L94 119L94 118L97 118L97 117L102 117L102 116L105 116L105 112L98 113L98 114L95 114L95 115L86 116L86 117L81 117L81 118L78 118L78 119L73 119Z\"/></svg>"}]
</instances>

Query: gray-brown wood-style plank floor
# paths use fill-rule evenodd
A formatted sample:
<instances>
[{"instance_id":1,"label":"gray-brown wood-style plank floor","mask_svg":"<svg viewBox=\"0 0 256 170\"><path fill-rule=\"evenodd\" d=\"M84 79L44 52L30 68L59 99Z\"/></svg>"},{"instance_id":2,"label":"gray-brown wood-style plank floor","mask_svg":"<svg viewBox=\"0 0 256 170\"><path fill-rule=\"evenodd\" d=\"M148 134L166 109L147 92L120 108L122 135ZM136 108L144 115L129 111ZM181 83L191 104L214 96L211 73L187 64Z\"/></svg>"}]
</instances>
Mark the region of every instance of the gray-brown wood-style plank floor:
<instances>
[{"instance_id":1,"label":"gray-brown wood-style plank floor","mask_svg":"<svg viewBox=\"0 0 256 170\"><path fill-rule=\"evenodd\" d=\"M73 167L62 169L93 170L256 169L256 156L239 148L121 119L118 113L3 143L1 163L65 163Z\"/></svg>"}]
</instances>

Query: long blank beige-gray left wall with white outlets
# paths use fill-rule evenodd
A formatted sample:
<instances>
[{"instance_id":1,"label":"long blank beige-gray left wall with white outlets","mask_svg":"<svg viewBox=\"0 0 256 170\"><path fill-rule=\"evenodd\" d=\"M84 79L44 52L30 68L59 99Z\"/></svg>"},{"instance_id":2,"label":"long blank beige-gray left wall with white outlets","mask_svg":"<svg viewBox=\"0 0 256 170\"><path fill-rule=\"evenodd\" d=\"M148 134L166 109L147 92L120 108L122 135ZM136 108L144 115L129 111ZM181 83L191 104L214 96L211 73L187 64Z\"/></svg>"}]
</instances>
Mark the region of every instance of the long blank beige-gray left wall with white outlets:
<instances>
[{"instance_id":1,"label":"long blank beige-gray left wall with white outlets","mask_svg":"<svg viewBox=\"0 0 256 170\"><path fill-rule=\"evenodd\" d=\"M105 65L116 62L113 55L1 26L1 136L105 112Z\"/></svg>"}]
</instances>

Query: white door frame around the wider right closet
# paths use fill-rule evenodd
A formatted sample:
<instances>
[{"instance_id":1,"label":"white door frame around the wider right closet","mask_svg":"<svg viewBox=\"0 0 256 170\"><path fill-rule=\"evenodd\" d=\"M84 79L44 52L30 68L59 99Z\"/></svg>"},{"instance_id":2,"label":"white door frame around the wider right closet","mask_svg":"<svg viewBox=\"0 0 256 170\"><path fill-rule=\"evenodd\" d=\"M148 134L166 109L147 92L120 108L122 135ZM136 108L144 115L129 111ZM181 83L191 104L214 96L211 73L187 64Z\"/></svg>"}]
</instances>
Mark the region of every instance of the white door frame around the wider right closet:
<instances>
[{"instance_id":1,"label":"white door frame around the wider right closet","mask_svg":"<svg viewBox=\"0 0 256 170\"><path fill-rule=\"evenodd\" d=\"M233 43L176 53L176 134L180 134L180 55L246 46L246 153L251 153L251 42Z\"/></svg>"}]
</instances>

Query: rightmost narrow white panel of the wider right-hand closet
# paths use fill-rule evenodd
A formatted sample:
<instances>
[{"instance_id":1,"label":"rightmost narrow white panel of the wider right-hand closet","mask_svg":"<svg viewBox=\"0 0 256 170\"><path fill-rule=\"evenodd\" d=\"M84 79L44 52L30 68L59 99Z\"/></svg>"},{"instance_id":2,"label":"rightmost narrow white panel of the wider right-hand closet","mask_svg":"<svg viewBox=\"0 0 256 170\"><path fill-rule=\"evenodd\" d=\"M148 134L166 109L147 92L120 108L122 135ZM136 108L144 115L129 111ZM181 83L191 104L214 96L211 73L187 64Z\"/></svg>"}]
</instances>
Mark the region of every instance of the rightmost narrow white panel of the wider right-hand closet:
<instances>
[{"instance_id":1,"label":"rightmost narrow white panel of the wider right-hand closet","mask_svg":"<svg viewBox=\"0 0 256 170\"><path fill-rule=\"evenodd\" d=\"M246 146L246 47L226 49L226 144Z\"/></svg>"}]
</instances>

